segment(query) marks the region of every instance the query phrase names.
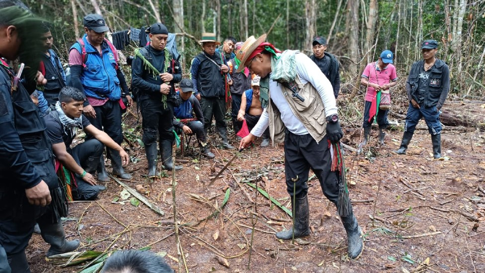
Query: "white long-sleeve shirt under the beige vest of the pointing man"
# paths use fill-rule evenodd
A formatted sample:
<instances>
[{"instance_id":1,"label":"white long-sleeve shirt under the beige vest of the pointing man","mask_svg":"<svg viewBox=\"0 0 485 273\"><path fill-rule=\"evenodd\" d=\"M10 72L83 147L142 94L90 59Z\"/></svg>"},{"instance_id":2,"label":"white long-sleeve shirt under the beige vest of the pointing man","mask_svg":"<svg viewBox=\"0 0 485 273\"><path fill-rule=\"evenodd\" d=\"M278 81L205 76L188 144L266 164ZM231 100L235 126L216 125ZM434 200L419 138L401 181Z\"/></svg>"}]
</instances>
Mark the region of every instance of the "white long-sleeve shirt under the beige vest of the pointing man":
<instances>
[{"instance_id":1,"label":"white long-sleeve shirt under the beige vest of the pointing man","mask_svg":"<svg viewBox=\"0 0 485 273\"><path fill-rule=\"evenodd\" d=\"M323 106L325 108L325 117L336 114L337 106L335 96L333 95L333 87L330 81L325 77L319 67L307 55L297 53L295 55L296 71L300 76L300 81L303 85L310 83L320 94ZM277 82L269 80L269 91L271 93L271 100L274 102L278 110L281 112L281 120L286 128L295 135L306 135L308 130L303 123L293 114L288 102L286 101L281 85ZM269 105L268 107L271 107ZM251 134L260 137L264 130L269 125L269 115L266 109L263 110L259 121L251 130Z\"/></svg>"}]
</instances>

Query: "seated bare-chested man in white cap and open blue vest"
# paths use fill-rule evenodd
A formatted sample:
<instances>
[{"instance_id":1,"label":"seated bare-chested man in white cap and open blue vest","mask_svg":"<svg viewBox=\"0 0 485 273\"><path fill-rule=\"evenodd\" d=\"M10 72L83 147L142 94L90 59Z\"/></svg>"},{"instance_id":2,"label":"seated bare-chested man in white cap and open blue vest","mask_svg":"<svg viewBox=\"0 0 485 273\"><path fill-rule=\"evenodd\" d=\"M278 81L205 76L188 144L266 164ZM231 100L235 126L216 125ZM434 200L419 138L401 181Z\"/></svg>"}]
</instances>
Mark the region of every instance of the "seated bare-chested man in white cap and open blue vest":
<instances>
[{"instance_id":1,"label":"seated bare-chested man in white cap and open blue vest","mask_svg":"<svg viewBox=\"0 0 485 273\"><path fill-rule=\"evenodd\" d=\"M241 108L238 113L238 121L242 122L243 119L246 120L246 124L249 130L252 130L254 125L258 122L261 114L263 113L263 108L261 107L261 102L259 101L259 80L261 77L254 76L251 81L251 89L244 91L241 98ZM240 125L241 127L241 125ZM261 142L261 147L269 146L269 128L263 133L263 141Z\"/></svg>"}]
</instances>

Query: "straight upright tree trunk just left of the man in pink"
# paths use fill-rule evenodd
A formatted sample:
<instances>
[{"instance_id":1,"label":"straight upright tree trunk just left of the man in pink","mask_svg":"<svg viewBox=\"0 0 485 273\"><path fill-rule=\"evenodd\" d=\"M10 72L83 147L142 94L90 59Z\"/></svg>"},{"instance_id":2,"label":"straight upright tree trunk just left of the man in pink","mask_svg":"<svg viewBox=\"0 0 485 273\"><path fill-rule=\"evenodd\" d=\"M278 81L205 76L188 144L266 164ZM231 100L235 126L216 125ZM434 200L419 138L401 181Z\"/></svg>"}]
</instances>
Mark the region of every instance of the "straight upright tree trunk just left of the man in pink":
<instances>
[{"instance_id":1,"label":"straight upright tree trunk just left of the man in pink","mask_svg":"<svg viewBox=\"0 0 485 273\"><path fill-rule=\"evenodd\" d=\"M360 61L359 56L359 1L349 0L347 1L348 10L348 30L349 30L349 58L353 61L349 64L349 73L353 77L359 74L359 65L354 64ZM360 77L359 77L360 78ZM351 97L353 98L359 86L355 86L352 91Z\"/></svg>"}]
</instances>

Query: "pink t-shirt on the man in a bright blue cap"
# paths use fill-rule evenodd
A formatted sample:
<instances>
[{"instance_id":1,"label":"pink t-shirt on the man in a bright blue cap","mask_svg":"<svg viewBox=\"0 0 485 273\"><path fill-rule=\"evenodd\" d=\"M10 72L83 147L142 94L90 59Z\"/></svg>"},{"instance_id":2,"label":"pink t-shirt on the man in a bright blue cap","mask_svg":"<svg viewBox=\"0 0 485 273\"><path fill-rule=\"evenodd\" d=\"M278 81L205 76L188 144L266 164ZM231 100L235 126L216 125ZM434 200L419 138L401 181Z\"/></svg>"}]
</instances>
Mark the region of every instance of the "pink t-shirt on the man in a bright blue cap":
<instances>
[{"instance_id":1,"label":"pink t-shirt on the man in a bright blue cap","mask_svg":"<svg viewBox=\"0 0 485 273\"><path fill-rule=\"evenodd\" d=\"M377 62L368 64L364 69L364 73L362 73L362 77L366 78L369 83L380 86L398 80L398 74L396 73L396 67L394 65L388 64L383 70L380 70ZM373 87L367 87L365 100L372 101L375 95L376 90Z\"/></svg>"}]
</instances>

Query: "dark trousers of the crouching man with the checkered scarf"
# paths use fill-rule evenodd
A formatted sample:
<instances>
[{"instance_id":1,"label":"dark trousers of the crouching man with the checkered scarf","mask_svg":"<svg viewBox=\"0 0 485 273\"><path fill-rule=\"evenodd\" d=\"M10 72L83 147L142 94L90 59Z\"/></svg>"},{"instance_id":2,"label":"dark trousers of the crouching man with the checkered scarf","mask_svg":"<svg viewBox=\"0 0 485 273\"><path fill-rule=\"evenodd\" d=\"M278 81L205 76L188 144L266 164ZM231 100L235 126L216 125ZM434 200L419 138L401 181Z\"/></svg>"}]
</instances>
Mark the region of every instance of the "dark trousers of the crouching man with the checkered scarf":
<instances>
[{"instance_id":1,"label":"dark trousers of the crouching man with the checkered scarf","mask_svg":"<svg viewBox=\"0 0 485 273\"><path fill-rule=\"evenodd\" d=\"M70 154L76 163L87 173L96 171L99 158L103 154L104 145L97 139L86 140L76 145ZM82 178L75 174L77 187L72 187L74 200L93 200L98 196L99 188L84 182Z\"/></svg>"}]
</instances>

